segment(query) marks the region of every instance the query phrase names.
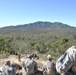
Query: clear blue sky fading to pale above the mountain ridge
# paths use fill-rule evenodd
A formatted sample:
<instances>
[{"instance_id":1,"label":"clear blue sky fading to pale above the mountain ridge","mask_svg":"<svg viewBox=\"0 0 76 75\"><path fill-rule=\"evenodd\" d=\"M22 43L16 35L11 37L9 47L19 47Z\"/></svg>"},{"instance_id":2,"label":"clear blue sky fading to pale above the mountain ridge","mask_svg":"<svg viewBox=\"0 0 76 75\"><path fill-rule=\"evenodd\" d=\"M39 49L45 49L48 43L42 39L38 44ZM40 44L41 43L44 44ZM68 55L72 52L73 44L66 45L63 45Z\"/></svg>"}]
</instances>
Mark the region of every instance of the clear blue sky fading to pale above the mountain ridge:
<instances>
[{"instance_id":1,"label":"clear blue sky fading to pale above the mountain ridge","mask_svg":"<svg viewBox=\"0 0 76 75\"><path fill-rule=\"evenodd\" d=\"M76 0L0 0L0 27L36 21L76 27Z\"/></svg>"}]
</instances>

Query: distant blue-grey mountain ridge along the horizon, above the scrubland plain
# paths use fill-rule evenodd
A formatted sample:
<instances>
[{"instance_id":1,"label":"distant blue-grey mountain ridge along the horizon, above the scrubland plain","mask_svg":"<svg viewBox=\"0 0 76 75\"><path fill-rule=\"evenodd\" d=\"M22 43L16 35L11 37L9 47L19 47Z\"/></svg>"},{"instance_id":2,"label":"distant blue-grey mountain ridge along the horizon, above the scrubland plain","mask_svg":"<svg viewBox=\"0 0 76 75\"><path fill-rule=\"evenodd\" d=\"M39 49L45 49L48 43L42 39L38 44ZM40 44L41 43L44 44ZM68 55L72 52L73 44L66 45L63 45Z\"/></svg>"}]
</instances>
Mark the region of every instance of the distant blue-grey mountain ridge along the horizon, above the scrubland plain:
<instances>
[{"instance_id":1,"label":"distant blue-grey mountain ridge along the horizon, above the scrubland plain","mask_svg":"<svg viewBox=\"0 0 76 75\"><path fill-rule=\"evenodd\" d=\"M23 24L23 25L16 25L16 26L7 26L0 28L0 33L11 33L11 32L25 32L27 30L32 31L55 31L55 30L73 30L76 29L75 27L69 26L67 24L63 24L61 22L42 22L38 21L35 23Z\"/></svg>"}]
</instances>

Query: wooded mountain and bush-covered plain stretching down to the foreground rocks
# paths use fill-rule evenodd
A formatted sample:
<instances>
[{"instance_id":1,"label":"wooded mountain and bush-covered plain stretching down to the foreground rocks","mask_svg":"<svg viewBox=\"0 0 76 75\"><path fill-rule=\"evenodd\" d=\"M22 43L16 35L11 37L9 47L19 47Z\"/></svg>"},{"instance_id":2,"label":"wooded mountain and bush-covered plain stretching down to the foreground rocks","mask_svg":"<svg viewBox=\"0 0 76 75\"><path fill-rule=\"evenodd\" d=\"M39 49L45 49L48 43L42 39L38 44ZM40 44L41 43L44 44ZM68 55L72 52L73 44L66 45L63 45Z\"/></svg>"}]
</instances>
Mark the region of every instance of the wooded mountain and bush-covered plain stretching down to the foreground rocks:
<instances>
[{"instance_id":1,"label":"wooded mountain and bush-covered plain stretching down to the foreground rocks","mask_svg":"<svg viewBox=\"0 0 76 75\"><path fill-rule=\"evenodd\" d=\"M39 21L0 28L1 53L37 51L57 58L72 45L76 45L76 28L60 22Z\"/></svg>"}]
</instances>

